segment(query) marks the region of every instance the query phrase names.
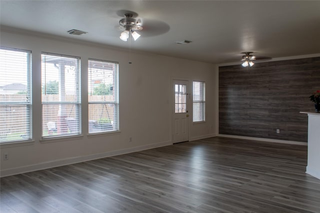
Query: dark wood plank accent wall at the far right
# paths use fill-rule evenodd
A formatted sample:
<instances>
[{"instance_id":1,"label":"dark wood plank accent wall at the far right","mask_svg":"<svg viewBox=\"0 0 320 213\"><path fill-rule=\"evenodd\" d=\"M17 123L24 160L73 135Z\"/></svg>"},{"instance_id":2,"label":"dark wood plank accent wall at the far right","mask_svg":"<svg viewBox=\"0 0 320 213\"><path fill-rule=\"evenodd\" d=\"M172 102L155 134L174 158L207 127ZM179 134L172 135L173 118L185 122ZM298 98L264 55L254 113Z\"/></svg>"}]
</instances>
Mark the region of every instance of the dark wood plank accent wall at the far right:
<instances>
[{"instance_id":1,"label":"dark wood plank accent wall at the far right","mask_svg":"<svg viewBox=\"0 0 320 213\"><path fill-rule=\"evenodd\" d=\"M307 142L318 89L320 57L219 67L219 134Z\"/></svg>"}]
</instances>

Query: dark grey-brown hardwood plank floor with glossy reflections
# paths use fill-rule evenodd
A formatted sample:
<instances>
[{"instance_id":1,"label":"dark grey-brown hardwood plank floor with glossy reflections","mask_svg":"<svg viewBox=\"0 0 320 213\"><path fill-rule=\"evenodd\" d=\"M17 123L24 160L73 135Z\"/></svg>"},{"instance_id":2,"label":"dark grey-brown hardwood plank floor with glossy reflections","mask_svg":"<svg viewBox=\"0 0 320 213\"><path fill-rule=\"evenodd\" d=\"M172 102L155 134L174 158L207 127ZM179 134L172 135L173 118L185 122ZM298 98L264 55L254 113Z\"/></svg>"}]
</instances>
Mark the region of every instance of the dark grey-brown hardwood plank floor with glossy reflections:
<instances>
[{"instance_id":1,"label":"dark grey-brown hardwood plank floor with glossy reflections","mask_svg":"<svg viewBox=\"0 0 320 213\"><path fill-rule=\"evenodd\" d=\"M1 178L1 213L320 213L306 158L299 145L179 143Z\"/></svg>"}]
</instances>

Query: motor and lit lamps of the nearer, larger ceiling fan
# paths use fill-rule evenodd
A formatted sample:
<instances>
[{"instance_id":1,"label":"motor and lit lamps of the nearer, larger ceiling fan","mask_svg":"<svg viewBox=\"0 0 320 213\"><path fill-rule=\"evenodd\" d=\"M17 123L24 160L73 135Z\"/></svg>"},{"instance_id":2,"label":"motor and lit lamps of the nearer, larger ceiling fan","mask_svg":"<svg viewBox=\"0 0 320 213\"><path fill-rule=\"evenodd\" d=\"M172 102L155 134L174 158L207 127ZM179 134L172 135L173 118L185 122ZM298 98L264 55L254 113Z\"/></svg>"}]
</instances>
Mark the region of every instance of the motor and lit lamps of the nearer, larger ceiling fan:
<instances>
[{"instance_id":1,"label":"motor and lit lamps of the nearer, larger ceiling fan","mask_svg":"<svg viewBox=\"0 0 320 213\"><path fill-rule=\"evenodd\" d=\"M122 41L127 41L127 39L130 39L130 36L132 36L134 40L138 39L140 34L136 31L139 31L143 28L141 23L132 17L132 13L125 13L124 16L124 18L119 20L120 29L124 29L121 32L120 39Z\"/></svg>"}]
</instances>

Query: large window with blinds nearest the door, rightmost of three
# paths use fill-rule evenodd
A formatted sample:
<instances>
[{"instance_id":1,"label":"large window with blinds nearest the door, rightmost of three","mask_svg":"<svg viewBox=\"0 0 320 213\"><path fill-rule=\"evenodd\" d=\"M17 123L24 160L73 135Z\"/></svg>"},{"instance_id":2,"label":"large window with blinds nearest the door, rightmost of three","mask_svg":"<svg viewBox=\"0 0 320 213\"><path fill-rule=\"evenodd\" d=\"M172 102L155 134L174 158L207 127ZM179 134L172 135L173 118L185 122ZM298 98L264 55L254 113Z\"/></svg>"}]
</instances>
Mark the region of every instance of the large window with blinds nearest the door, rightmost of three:
<instances>
[{"instance_id":1,"label":"large window with blinds nearest the door, rightmost of three","mask_svg":"<svg viewBox=\"0 0 320 213\"><path fill-rule=\"evenodd\" d=\"M118 63L88 61L89 133L119 130Z\"/></svg>"}]
</instances>

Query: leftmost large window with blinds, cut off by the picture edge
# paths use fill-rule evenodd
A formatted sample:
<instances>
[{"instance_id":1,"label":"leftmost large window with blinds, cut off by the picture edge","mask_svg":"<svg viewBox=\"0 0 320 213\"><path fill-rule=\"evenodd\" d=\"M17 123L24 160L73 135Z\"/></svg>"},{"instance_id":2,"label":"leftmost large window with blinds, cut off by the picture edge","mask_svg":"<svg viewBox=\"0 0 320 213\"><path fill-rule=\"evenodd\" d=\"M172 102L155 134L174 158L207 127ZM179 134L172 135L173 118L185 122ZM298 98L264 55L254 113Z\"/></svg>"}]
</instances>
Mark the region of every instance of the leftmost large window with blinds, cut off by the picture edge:
<instances>
[{"instance_id":1,"label":"leftmost large window with blinds, cut off by the picture edge","mask_svg":"<svg viewBox=\"0 0 320 213\"><path fill-rule=\"evenodd\" d=\"M0 142L31 137L31 51L1 47Z\"/></svg>"}]
</instances>

